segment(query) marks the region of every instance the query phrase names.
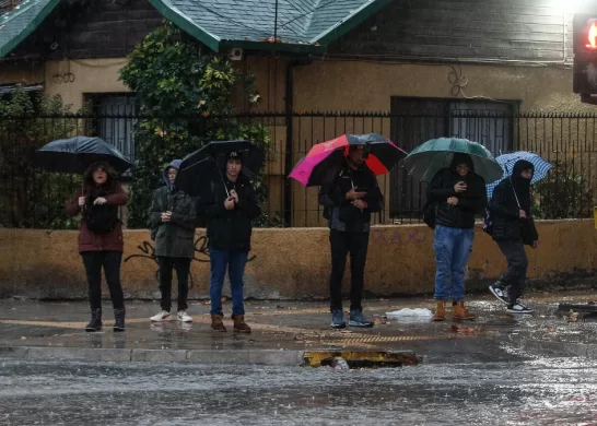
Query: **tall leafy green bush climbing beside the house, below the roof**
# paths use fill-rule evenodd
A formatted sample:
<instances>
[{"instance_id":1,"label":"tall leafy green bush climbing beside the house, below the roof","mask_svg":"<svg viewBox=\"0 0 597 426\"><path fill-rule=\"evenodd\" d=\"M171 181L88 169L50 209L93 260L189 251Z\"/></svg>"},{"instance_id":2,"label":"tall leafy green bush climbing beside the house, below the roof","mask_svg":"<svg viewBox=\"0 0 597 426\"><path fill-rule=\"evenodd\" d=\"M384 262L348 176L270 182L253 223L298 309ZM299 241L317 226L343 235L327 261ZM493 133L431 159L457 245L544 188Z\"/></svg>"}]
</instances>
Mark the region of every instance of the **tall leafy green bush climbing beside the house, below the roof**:
<instances>
[{"instance_id":1,"label":"tall leafy green bush climbing beside the house, below the roof","mask_svg":"<svg viewBox=\"0 0 597 426\"><path fill-rule=\"evenodd\" d=\"M169 161L214 140L245 139L268 153L271 138L262 123L242 122L233 116L237 90L249 105L259 100L254 78L239 74L226 58L203 54L195 39L172 23L149 34L128 59L120 80L137 94L142 117L134 130L128 226L145 228L152 192ZM262 181L257 179L255 185L264 201ZM259 225L271 223L266 217Z\"/></svg>"}]
</instances>

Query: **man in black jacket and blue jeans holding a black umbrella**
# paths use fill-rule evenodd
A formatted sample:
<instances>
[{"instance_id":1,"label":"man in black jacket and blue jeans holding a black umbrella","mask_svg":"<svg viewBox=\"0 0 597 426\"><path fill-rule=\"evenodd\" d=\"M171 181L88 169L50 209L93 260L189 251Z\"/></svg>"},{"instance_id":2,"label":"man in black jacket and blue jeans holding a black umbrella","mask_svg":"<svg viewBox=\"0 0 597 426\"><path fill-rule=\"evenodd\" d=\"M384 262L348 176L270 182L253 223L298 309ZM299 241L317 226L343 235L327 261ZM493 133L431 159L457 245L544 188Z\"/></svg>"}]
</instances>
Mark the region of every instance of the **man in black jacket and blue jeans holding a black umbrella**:
<instances>
[{"instance_id":1,"label":"man in black jacket and blue jeans holding a black umbrella","mask_svg":"<svg viewBox=\"0 0 597 426\"><path fill-rule=\"evenodd\" d=\"M201 197L199 215L207 222L211 281L211 329L225 332L222 310L222 287L226 270L232 293L234 331L250 333L245 322L243 276L250 251L253 221L261 209L249 179L242 175L242 157L231 152L222 178L209 182Z\"/></svg>"}]
</instances>

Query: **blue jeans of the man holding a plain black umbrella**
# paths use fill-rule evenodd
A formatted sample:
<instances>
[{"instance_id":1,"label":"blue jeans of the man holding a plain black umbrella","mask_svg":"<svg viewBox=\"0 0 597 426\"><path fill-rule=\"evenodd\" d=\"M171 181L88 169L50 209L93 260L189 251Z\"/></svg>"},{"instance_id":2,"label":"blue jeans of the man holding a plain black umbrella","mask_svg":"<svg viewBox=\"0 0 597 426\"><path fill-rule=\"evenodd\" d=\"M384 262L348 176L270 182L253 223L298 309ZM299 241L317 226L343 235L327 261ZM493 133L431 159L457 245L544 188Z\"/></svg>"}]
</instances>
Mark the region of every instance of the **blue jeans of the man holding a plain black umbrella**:
<instances>
[{"instance_id":1,"label":"blue jeans of the man holding a plain black umbrella","mask_svg":"<svg viewBox=\"0 0 597 426\"><path fill-rule=\"evenodd\" d=\"M248 251L243 250L216 250L210 248L211 267L211 315L223 315L222 312L222 287L229 270L230 287L232 293L232 315L245 315L243 303L243 276L247 264Z\"/></svg>"}]
</instances>

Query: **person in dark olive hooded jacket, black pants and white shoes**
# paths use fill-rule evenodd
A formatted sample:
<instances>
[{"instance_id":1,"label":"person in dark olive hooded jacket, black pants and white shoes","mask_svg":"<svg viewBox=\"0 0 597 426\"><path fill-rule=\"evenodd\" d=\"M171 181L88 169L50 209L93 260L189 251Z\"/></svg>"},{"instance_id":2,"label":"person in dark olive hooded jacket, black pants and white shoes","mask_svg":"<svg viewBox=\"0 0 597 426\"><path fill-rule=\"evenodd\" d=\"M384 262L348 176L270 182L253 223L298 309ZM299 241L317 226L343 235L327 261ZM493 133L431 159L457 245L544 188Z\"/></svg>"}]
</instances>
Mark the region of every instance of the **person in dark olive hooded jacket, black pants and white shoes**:
<instances>
[{"instance_id":1,"label":"person in dark olive hooded jacket, black pants and white shoes","mask_svg":"<svg viewBox=\"0 0 597 426\"><path fill-rule=\"evenodd\" d=\"M174 181L182 159L175 159L164 170L164 186L153 193L151 206L151 238L155 241L154 255L160 267L160 291L162 311L151 321L171 319L172 270L178 277L177 319L192 322L187 313L188 277L190 262L195 256L195 227L197 225L197 199L178 190Z\"/></svg>"}]
</instances>

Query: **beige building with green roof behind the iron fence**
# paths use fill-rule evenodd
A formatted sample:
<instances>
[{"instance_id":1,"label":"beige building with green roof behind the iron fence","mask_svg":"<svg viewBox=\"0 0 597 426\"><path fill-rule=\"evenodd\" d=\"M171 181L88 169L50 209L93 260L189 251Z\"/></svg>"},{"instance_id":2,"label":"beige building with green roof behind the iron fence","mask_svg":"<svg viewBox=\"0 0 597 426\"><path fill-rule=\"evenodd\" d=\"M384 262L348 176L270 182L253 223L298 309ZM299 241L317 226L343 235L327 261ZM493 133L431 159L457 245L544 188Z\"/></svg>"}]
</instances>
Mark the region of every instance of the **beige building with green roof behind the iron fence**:
<instances>
[{"instance_id":1,"label":"beige building with green roof behind the iron fence","mask_svg":"<svg viewBox=\"0 0 597 426\"><path fill-rule=\"evenodd\" d=\"M267 209L295 226L323 221L316 189L290 182L289 165L314 143L346 132L383 133L407 151L458 135L494 153L532 149L576 167L580 156L593 161L593 121L553 125L553 114L595 114L572 91L575 10L567 2L286 0L276 25L271 1L245 1L243 10L208 0L84 4L26 0L0 15L0 93L20 83L60 95L74 110L92 102L130 111L134 94L118 80L119 69L165 17L257 76L262 102L250 113L279 114L267 118L276 141ZM507 118L531 113L547 118ZM132 122L103 120L99 135L132 152ZM381 181L383 221L408 222L419 184L399 169Z\"/></svg>"}]
</instances>

